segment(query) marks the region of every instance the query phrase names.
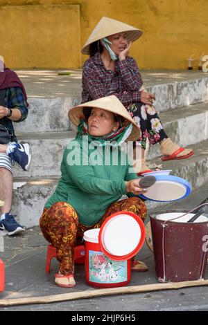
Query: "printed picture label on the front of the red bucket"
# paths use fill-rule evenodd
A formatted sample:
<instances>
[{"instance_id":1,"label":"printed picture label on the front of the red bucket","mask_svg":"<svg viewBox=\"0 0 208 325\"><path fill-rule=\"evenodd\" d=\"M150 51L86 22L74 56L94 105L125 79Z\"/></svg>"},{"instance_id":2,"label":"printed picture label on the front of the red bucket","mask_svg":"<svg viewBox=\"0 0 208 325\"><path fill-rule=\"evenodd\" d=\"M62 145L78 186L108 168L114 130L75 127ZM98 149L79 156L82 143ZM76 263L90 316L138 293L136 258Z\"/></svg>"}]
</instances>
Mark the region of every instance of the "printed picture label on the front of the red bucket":
<instances>
[{"instance_id":1,"label":"printed picture label on the front of the red bucket","mask_svg":"<svg viewBox=\"0 0 208 325\"><path fill-rule=\"evenodd\" d=\"M89 281L98 284L127 281L127 261L113 261L103 252L89 250Z\"/></svg>"}]
</instances>

